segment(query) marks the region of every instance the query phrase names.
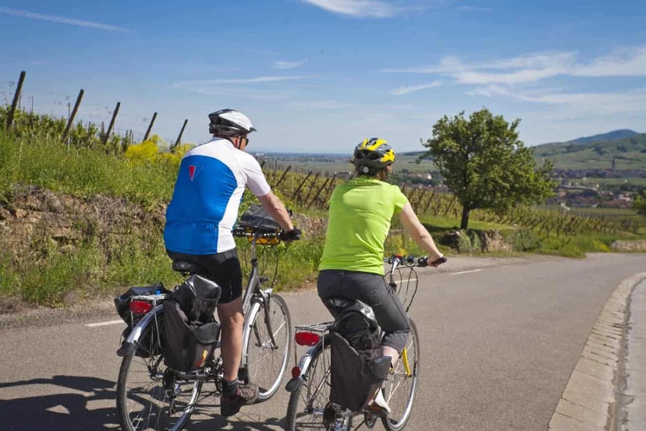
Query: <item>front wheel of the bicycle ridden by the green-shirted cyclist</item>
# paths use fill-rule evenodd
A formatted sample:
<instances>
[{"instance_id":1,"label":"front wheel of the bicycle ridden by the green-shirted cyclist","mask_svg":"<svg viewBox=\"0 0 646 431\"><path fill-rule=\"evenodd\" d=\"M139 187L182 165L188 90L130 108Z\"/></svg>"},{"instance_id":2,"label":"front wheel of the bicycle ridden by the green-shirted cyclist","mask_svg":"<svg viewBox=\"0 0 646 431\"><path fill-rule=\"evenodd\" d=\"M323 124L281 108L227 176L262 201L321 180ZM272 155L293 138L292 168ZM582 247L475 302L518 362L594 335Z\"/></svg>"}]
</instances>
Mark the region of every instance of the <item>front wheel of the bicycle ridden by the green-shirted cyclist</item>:
<instances>
[{"instance_id":1,"label":"front wheel of the bicycle ridden by the green-shirted cyclist","mask_svg":"<svg viewBox=\"0 0 646 431\"><path fill-rule=\"evenodd\" d=\"M412 352L412 346L415 346L414 352ZM419 383L419 333L417 333L417 326L415 326L415 322L410 320L410 341L408 344L406 344L406 350L407 350L407 355L408 355L408 362L410 366L410 370L412 372L412 377L405 377L403 381L408 381L410 379L410 388L408 390L408 397L406 399L406 403L404 404L404 408L402 408L402 414L401 417L392 417L393 414L398 415L397 413L393 413L393 406L396 406L393 401L391 401L393 394L390 394L388 390L388 384L386 384L386 388L384 389L384 397L386 397L386 401L388 402L388 405L391 407L391 414L388 415L388 417L382 417L381 421L384 425L384 428L388 431L400 431L406 426L406 423L408 422L408 419L410 419L410 415L412 414L413 411L413 405L415 403L415 394L417 394L417 386ZM405 371L403 370L404 366L402 364L402 358L399 359L397 364L395 365L395 370L394 373L391 374L389 377L389 380L391 381L390 383L390 388L393 387L394 381L396 379L396 376L398 372ZM398 371L400 370L400 371ZM395 410L397 407L395 407Z\"/></svg>"}]
</instances>

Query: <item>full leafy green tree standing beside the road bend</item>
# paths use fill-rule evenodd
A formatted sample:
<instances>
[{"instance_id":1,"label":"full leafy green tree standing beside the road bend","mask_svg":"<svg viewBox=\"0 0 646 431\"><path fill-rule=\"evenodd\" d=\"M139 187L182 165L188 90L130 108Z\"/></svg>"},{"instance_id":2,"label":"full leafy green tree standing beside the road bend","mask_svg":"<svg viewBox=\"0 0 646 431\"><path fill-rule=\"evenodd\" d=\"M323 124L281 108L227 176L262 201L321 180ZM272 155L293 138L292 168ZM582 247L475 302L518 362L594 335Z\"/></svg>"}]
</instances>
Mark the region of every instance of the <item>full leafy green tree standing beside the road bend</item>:
<instances>
[{"instance_id":1,"label":"full leafy green tree standing beside the road bend","mask_svg":"<svg viewBox=\"0 0 646 431\"><path fill-rule=\"evenodd\" d=\"M488 109L467 120L463 111L437 121L433 138L422 142L428 151L420 157L432 156L444 183L462 204L461 229L467 229L473 209L504 212L554 195L552 164L536 167L534 150L518 139L519 123L509 124Z\"/></svg>"}]
</instances>

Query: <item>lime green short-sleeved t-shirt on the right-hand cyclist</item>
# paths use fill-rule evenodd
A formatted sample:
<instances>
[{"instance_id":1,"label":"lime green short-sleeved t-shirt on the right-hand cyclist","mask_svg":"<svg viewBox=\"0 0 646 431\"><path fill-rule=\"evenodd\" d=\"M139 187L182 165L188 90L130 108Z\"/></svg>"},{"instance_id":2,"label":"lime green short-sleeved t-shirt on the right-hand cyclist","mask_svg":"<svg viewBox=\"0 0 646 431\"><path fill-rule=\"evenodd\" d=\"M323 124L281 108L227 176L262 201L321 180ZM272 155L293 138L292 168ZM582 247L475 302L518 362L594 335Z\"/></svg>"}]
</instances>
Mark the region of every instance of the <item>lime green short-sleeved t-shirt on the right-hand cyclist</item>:
<instances>
[{"instance_id":1,"label":"lime green short-sleeved t-shirt on the right-hand cyclist","mask_svg":"<svg viewBox=\"0 0 646 431\"><path fill-rule=\"evenodd\" d=\"M318 270L346 269L384 275L384 241L390 219L408 204L397 185L353 178L334 189Z\"/></svg>"}]
</instances>

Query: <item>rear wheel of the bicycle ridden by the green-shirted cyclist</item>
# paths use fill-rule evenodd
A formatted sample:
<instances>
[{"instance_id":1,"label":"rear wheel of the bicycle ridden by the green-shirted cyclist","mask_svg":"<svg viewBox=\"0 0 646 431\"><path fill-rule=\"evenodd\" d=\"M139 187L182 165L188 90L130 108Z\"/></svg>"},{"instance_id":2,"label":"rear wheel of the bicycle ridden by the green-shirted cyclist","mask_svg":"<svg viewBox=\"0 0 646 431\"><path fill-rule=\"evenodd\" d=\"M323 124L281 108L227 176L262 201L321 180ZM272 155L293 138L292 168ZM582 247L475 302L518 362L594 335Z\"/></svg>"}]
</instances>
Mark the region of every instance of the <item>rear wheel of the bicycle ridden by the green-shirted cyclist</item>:
<instances>
[{"instance_id":1,"label":"rear wheel of the bicycle ridden by the green-shirted cyclist","mask_svg":"<svg viewBox=\"0 0 646 431\"><path fill-rule=\"evenodd\" d=\"M329 403L330 365L329 337L326 337L325 350L319 349L312 355L303 382L291 393L287 405L285 429L288 431L328 429L346 431L352 426L352 418L346 417L326 428L323 413Z\"/></svg>"}]
</instances>

